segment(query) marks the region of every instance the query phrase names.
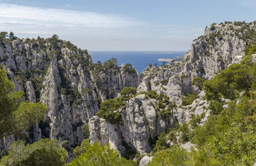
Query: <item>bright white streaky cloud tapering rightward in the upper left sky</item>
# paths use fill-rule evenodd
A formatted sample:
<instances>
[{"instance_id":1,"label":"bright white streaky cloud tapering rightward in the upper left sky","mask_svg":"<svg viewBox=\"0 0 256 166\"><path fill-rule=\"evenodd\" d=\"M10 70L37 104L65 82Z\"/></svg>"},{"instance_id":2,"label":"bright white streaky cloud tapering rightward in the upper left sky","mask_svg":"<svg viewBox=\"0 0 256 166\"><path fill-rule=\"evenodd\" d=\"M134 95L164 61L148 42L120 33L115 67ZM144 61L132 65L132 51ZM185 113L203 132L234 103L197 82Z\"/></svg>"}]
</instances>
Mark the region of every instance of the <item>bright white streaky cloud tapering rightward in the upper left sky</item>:
<instances>
[{"instance_id":1,"label":"bright white streaky cloud tapering rightward in the upper left sky","mask_svg":"<svg viewBox=\"0 0 256 166\"><path fill-rule=\"evenodd\" d=\"M121 29L124 27L138 26L141 24L123 15L104 15L87 11L72 11L35 8L29 6L18 6L15 4L0 4L1 27L9 27L13 31L15 28L42 29L47 31L95 31L97 33ZM12 27L10 27L12 26ZM78 32L77 32L78 33Z\"/></svg>"}]
</instances>

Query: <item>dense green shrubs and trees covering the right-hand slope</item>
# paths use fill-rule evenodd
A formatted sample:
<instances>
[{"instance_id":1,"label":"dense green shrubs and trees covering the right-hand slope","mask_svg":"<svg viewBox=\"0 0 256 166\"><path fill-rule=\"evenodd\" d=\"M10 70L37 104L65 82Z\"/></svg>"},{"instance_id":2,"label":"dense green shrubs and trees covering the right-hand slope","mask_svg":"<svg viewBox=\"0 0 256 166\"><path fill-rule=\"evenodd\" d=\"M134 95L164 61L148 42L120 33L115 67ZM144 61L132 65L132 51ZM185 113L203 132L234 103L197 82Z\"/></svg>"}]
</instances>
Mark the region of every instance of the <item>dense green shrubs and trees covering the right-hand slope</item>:
<instances>
[{"instance_id":1,"label":"dense green shrubs and trees covering the right-hand slope","mask_svg":"<svg viewBox=\"0 0 256 166\"><path fill-rule=\"evenodd\" d=\"M249 45L241 63L230 65L204 82L211 116L202 126L198 124L204 114L162 133L154 147L158 151L148 165L253 165L256 160L256 63L252 62L252 54L255 53L256 45ZM203 81L198 80L201 85ZM230 101L223 103L221 98ZM226 109L223 105L227 105ZM177 133L179 142L191 141L198 150L187 152L166 144L167 140L177 144Z\"/></svg>"}]
</instances>

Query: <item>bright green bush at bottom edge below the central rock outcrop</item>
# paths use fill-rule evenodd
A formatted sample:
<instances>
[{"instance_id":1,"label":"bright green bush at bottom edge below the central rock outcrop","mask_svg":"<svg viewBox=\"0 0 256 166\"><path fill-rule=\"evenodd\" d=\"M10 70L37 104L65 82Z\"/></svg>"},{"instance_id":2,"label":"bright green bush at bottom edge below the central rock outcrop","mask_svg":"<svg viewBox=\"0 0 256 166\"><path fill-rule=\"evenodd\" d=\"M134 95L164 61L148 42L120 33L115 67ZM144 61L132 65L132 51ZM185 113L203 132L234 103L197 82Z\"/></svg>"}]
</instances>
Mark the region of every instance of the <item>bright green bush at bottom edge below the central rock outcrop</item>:
<instances>
[{"instance_id":1,"label":"bright green bush at bottom edge below the central rock outcrop","mask_svg":"<svg viewBox=\"0 0 256 166\"><path fill-rule=\"evenodd\" d=\"M98 143L84 146L85 152L67 165L136 165L136 162L120 158L118 151Z\"/></svg>"}]
</instances>

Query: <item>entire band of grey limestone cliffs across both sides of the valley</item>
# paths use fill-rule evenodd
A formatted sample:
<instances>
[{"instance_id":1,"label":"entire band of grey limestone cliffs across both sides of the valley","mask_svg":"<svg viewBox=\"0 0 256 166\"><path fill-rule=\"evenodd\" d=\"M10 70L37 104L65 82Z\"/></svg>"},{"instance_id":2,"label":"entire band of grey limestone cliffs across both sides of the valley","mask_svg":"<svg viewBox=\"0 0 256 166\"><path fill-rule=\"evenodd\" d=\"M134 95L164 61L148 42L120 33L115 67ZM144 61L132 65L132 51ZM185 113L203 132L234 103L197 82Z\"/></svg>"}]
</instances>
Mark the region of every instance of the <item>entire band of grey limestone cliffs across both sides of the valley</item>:
<instances>
[{"instance_id":1,"label":"entire band of grey limestone cliffs across both sides of the valley","mask_svg":"<svg viewBox=\"0 0 256 166\"><path fill-rule=\"evenodd\" d=\"M0 62L16 90L25 92L24 100L47 105L44 121L31 129L30 142L49 137L76 146L84 139L83 126L88 123L92 143L109 143L121 153L127 147L150 153L152 142L175 123L188 123L192 116L203 112L201 123L205 122L209 103L192 80L211 79L239 62L255 29L255 22L212 24L192 43L184 60L148 66L140 76L131 66L116 65L115 59L93 64L86 50L58 36L4 39L0 43ZM130 86L137 87L138 94L120 110L119 123L95 116L100 102L115 98L123 87ZM150 91L161 97L148 95ZM183 106L186 93L198 93L198 98ZM1 147L10 146L13 140L6 138Z\"/></svg>"}]
</instances>

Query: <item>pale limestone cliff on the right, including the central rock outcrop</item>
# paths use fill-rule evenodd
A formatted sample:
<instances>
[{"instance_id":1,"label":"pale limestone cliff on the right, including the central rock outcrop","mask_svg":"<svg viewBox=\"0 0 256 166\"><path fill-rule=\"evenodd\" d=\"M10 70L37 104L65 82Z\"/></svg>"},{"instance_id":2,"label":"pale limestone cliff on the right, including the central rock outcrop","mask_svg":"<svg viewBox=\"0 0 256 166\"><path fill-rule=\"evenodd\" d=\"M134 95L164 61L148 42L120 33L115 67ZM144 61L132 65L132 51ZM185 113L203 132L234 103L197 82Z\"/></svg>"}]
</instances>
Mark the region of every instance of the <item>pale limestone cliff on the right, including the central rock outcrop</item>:
<instances>
[{"instance_id":1,"label":"pale limestone cliff on the right, including the central rock outcrop","mask_svg":"<svg viewBox=\"0 0 256 166\"><path fill-rule=\"evenodd\" d=\"M209 103L204 99L204 91L193 86L192 80L195 77L211 79L228 65L238 63L244 55L243 50L255 34L256 22L212 24L211 27L206 27L204 35L193 41L184 60L159 67L148 66L141 73L137 93L154 90L157 94L168 96L177 107L172 107L164 114L166 107L157 109L159 101L139 94L127 102L122 109L122 120L115 127L103 125L108 122L99 117L90 119L91 142L111 142L121 152L124 151L122 142L125 142L139 153L150 153L152 140L172 128L175 121L180 124L188 123L192 116L204 112L205 116L201 121L204 123L209 116ZM199 98L191 105L182 106L182 98L186 93L198 93ZM113 135L118 137L115 142Z\"/></svg>"}]
</instances>

